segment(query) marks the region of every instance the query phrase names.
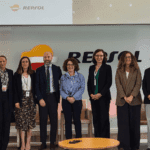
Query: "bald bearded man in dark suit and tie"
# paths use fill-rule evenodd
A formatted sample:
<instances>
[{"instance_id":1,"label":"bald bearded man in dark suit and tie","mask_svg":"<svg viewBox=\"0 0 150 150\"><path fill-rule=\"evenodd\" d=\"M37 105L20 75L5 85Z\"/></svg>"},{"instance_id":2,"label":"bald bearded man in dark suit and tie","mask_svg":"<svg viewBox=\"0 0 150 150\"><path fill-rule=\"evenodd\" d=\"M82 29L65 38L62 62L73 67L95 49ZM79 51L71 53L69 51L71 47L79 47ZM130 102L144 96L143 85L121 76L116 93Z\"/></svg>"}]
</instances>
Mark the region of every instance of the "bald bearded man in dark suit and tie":
<instances>
[{"instance_id":1,"label":"bald bearded man in dark suit and tie","mask_svg":"<svg viewBox=\"0 0 150 150\"><path fill-rule=\"evenodd\" d=\"M36 70L36 95L39 101L40 115L40 137L42 145L40 150L45 149L47 137L47 116L50 117L50 148L57 145L57 108L60 101L59 80L62 75L60 67L51 64L53 55L45 52L43 56L44 65Z\"/></svg>"}]
</instances>

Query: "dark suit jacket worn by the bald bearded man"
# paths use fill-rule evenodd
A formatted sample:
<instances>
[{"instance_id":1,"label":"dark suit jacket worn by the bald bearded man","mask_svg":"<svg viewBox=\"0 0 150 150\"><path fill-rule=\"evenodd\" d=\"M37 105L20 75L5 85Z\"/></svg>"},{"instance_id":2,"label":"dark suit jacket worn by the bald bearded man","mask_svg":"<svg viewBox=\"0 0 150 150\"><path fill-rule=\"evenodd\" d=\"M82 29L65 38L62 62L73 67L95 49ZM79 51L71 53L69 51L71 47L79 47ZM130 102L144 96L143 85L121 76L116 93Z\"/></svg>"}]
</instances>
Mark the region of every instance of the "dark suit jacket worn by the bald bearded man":
<instances>
[{"instance_id":1,"label":"dark suit jacket worn by the bald bearded man","mask_svg":"<svg viewBox=\"0 0 150 150\"><path fill-rule=\"evenodd\" d=\"M54 88L56 94L56 100L59 103L60 101L60 90L59 90L59 80L61 78L61 69L58 66L52 64L52 72L53 72L53 81ZM37 100L46 98L46 73L45 66L41 66L36 70L36 95Z\"/></svg>"}]
</instances>

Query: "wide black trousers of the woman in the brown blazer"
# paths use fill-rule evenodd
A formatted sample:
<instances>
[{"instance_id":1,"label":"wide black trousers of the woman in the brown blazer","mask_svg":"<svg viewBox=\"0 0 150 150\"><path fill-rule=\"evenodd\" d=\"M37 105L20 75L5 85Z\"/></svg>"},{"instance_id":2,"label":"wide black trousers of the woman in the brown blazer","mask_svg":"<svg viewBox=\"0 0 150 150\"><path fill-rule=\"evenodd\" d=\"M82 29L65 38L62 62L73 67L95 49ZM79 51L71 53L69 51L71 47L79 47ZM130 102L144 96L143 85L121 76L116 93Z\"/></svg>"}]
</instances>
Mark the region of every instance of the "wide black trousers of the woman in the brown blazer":
<instances>
[{"instance_id":1,"label":"wide black trousers of the woman in the brown blazer","mask_svg":"<svg viewBox=\"0 0 150 150\"><path fill-rule=\"evenodd\" d=\"M130 106L125 103L117 106L119 148L139 149L140 146L141 105Z\"/></svg>"}]
</instances>

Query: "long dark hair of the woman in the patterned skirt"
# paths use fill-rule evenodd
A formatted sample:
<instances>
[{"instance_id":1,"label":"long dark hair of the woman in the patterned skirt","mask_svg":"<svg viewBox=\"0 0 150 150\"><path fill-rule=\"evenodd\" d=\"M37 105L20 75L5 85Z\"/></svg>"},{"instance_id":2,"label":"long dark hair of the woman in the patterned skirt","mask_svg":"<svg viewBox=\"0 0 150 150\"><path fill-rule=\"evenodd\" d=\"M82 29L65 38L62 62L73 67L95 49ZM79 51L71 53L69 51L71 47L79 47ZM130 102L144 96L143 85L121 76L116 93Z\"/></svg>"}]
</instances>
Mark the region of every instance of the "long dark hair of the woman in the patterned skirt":
<instances>
[{"instance_id":1,"label":"long dark hair of the woman in the patterned skirt","mask_svg":"<svg viewBox=\"0 0 150 150\"><path fill-rule=\"evenodd\" d=\"M29 61L29 67L28 67L27 73L28 73L28 74L34 73L35 71L32 70L31 61L30 61L29 57L27 57L27 56L24 56L24 57L22 57L22 58L20 59L20 62L19 62L19 65L18 65L18 69L17 69L16 72L17 72L18 74L22 74L22 73L24 72L24 71L23 71L23 67L22 67L22 60L23 60L24 58L27 58L28 61Z\"/></svg>"}]
</instances>

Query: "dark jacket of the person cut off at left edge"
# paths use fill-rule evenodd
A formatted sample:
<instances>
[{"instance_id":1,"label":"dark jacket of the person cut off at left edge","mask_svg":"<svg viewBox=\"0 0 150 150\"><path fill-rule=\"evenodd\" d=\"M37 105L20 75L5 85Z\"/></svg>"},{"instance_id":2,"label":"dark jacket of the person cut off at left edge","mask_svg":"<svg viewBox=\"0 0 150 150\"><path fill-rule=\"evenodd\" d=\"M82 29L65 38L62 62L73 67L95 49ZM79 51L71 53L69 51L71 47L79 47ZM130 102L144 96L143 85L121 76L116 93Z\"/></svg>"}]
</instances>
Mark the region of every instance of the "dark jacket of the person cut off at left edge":
<instances>
[{"instance_id":1,"label":"dark jacket of the person cut off at left edge","mask_svg":"<svg viewBox=\"0 0 150 150\"><path fill-rule=\"evenodd\" d=\"M13 71L10 69L6 69L8 72L8 77L9 77L9 81L8 81L8 89L7 89L7 93L8 93L8 101L9 101L9 108L10 108L10 112L13 111L14 109L14 102L13 102ZM0 89L2 89L2 83L1 83L1 78L0 78ZM2 90L0 90L0 99L2 99Z\"/></svg>"}]
</instances>

